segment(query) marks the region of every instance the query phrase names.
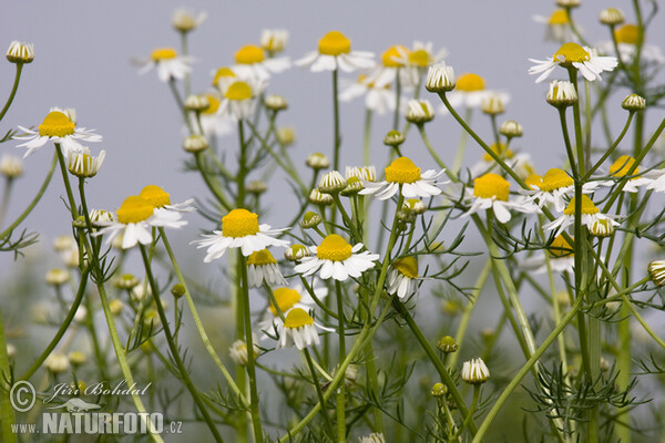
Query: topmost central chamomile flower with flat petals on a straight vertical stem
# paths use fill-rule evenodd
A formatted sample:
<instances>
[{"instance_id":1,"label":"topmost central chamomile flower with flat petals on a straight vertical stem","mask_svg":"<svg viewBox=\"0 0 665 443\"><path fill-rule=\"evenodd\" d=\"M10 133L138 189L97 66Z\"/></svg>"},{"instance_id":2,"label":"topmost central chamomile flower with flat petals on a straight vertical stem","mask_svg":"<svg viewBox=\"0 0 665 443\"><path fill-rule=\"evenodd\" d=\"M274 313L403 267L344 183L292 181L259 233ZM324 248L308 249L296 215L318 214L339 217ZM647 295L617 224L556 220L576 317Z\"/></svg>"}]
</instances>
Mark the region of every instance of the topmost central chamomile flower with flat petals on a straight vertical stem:
<instances>
[{"instance_id":1,"label":"topmost central chamomile flower with flat petals on a straight vertical stem","mask_svg":"<svg viewBox=\"0 0 665 443\"><path fill-rule=\"evenodd\" d=\"M357 69L374 66L374 53L351 51L351 41L339 31L330 31L319 40L318 51L307 53L296 60L297 66L311 66L311 72L336 71L352 72Z\"/></svg>"}]
</instances>

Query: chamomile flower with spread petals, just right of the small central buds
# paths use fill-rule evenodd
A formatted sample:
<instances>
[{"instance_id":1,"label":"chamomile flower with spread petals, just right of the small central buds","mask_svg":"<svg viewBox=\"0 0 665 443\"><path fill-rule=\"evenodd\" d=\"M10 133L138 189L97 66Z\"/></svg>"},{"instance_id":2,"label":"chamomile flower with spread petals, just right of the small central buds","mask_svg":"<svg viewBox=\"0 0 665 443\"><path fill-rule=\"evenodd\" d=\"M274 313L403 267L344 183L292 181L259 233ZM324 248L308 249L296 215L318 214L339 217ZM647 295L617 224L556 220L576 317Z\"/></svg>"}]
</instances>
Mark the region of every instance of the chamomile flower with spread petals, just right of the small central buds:
<instances>
[{"instance_id":1,"label":"chamomile flower with spread petals, just right of the small central buds","mask_svg":"<svg viewBox=\"0 0 665 443\"><path fill-rule=\"evenodd\" d=\"M448 181L437 181L446 173L446 169L436 172L428 169L420 174L420 168L407 157L398 157L390 166L386 167L385 182L364 182L365 189L360 190L362 195L376 195L380 200L392 197L401 187L401 193L406 198L431 197L441 194L437 184L444 185Z\"/></svg>"}]
</instances>

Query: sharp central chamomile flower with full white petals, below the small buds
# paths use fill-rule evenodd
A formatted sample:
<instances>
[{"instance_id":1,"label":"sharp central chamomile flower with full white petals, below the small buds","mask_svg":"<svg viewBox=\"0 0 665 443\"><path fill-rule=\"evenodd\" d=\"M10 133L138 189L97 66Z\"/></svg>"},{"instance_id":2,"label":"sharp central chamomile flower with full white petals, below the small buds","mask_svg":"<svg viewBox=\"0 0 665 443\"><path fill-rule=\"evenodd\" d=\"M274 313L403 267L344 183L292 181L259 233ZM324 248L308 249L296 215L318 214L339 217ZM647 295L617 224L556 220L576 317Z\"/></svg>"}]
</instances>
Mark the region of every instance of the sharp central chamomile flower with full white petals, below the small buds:
<instances>
[{"instance_id":1,"label":"sharp central chamomile flower with full white petals, below the small buds","mask_svg":"<svg viewBox=\"0 0 665 443\"><path fill-rule=\"evenodd\" d=\"M345 281L349 277L359 278L362 272L374 268L379 259L378 254L360 253L365 246L359 243L351 246L341 236L330 234L319 246L309 248L313 256L305 257L295 267L295 271L308 277L319 271L318 276L327 280L334 278Z\"/></svg>"}]
</instances>

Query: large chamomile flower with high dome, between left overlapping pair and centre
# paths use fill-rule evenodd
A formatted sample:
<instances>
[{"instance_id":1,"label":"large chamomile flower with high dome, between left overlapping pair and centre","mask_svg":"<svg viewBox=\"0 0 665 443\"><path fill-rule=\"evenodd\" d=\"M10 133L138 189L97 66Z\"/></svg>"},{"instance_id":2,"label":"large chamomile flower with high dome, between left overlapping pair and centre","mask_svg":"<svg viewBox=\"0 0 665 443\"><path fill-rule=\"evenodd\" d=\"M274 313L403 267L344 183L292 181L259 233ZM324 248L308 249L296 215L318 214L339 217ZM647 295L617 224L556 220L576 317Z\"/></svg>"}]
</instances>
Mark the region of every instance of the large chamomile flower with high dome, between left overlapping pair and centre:
<instances>
[{"instance_id":1,"label":"large chamomile flower with high dome, between left overlapping pair and centre","mask_svg":"<svg viewBox=\"0 0 665 443\"><path fill-rule=\"evenodd\" d=\"M204 239L192 244L198 245L198 248L208 248L203 260L205 262L221 258L229 248L241 248L243 255L248 257L268 246L288 246L288 241L273 237L284 230L286 229L270 229L270 225L259 225L256 214L239 208L222 217L222 230L203 235Z\"/></svg>"}]
</instances>

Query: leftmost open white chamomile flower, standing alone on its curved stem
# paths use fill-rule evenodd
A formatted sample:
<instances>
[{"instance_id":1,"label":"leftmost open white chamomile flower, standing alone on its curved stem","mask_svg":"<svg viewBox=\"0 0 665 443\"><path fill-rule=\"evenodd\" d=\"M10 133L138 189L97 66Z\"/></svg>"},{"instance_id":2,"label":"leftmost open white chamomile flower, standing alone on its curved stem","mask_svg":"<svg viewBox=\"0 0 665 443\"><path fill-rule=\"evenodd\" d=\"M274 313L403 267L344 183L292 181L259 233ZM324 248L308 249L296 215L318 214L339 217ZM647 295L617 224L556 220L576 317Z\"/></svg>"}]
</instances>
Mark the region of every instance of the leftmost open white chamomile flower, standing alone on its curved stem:
<instances>
[{"instance_id":1,"label":"leftmost open white chamomile flower, standing alone on its curved stem","mask_svg":"<svg viewBox=\"0 0 665 443\"><path fill-rule=\"evenodd\" d=\"M39 150L48 142L59 143L62 146L63 154L66 156L70 151L81 148L80 142L101 142L102 136L93 134L94 130L85 127L76 127L75 123L70 120L66 112L52 107L44 121L37 126L37 131L29 130L24 126L19 126L25 135L16 135L14 140L23 140L18 147L27 147L28 151L23 154L23 158Z\"/></svg>"}]
</instances>

